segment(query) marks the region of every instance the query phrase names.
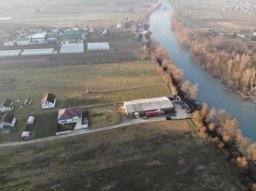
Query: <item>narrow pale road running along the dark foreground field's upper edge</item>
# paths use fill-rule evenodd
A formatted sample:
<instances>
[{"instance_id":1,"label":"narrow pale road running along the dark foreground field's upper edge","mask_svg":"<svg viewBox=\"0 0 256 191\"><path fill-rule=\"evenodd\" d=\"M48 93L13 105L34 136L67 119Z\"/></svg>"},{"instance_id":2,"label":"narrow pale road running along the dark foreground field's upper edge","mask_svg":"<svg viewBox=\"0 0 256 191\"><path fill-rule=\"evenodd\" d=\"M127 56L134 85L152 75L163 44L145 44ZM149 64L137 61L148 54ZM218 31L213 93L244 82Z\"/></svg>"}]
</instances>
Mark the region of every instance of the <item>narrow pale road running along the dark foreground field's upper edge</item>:
<instances>
[{"instance_id":1,"label":"narrow pale road running along the dark foreground field's upper edge","mask_svg":"<svg viewBox=\"0 0 256 191\"><path fill-rule=\"evenodd\" d=\"M19 146L19 145L26 145L26 144L35 144L35 143L38 143L38 142L45 142L45 141L49 141L49 140L55 140L55 139L59 139L59 138L66 138L66 137L76 136L76 135L80 135L80 134L95 133L95 132L99 132L99 131L106 131L106 130L110 130L110 129L116 129L116 128L119 128L119 127L122 127L122 126L124 127L124 126L128 126L128 125L135 125L135 124L148 123L148 122L152 122L152 121L162 121L162 120L165 120L165 118L147 119L147 120L140 120L140 121L136 120L136 121L131 121L131 122L123 123L123 124L103 127L103 128L99 128L99 129L92 129L92 130L87 130L87 131L84 131L84 130L74 131L73 133L69 133L69 134L61 134L61 135L57 135L57 136L50 136L50 137L39 138L39 139L35 139L35 140L4 143L4 144L0 144L0 148L1 147L7 147L7 146Z\"/></svg>"}]
</instances>

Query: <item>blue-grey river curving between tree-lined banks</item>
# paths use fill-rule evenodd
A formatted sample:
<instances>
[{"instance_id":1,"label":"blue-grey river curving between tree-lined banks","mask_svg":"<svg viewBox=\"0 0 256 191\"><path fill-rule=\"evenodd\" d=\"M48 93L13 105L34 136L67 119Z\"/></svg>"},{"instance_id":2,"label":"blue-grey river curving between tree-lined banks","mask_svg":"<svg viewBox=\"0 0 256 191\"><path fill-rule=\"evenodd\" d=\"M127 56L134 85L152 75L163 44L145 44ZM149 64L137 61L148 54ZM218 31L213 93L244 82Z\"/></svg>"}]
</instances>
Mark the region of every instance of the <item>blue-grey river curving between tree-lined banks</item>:
<instances>
[{"instance_id":1,"label":"blue-grey river curving between tree-lined banks","mask_svg":"<svg viewBox=\"0 0 256 191\"><path fill-rule=\"evenodd\" d=\"M225 90L218 78L214 78L194 61L189 50L179 42L175 31L171 29L170 16L174 8L167 0L162 2L167 10L163 10L161 6L150 17L152 36L167 49L175 65L184 70L185 79L192 84L199 84L200 102L208 103L209 108L223 108L230 112L238 119L244 136L256 141L256 104L244 101L238 94Z\"/></svg>"}]
</instances>

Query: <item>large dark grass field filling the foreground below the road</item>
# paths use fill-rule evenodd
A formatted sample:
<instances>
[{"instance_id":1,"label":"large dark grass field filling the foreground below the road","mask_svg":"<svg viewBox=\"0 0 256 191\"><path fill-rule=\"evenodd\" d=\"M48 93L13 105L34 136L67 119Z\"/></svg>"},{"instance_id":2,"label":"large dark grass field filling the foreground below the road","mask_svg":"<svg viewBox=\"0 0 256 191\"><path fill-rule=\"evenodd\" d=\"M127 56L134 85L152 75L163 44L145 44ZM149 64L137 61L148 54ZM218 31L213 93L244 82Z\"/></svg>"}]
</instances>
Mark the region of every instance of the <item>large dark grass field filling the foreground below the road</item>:
<instances>
[{"instance_id":1,"label":"large dark grass field filling the foreground below the road","mask_svg":"<svg viewBox=\"0 0 256 191\"><path fill-rule=\"evenodd\" d=\"M226 162L186 120L0 148L0 153L3 190L242 190Z\"/></svg>"}]
</instances>

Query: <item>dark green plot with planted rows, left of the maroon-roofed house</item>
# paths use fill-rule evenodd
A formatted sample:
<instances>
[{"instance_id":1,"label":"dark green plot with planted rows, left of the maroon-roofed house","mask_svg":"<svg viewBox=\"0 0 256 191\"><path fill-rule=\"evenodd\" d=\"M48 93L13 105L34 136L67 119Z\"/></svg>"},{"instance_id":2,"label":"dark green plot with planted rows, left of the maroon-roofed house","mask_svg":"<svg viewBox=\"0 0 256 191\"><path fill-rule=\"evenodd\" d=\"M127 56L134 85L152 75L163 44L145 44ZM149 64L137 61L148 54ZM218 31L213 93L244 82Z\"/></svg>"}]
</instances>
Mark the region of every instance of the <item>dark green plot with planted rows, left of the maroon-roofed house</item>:
<instances>
[{"instance_id":1,"label":"dark green plot with planted rows, left of the maroon-roofed house","mask_svg":"<svg viewBox=\"0 0 256 191\"><path fill-rule=\"evenodd\" d=\"M33 125L27 125L26 131L32 133L32 138L43 138L53 136L57 131L58 113L47 113L35 116Z\"/></svg>"}]
</instances>

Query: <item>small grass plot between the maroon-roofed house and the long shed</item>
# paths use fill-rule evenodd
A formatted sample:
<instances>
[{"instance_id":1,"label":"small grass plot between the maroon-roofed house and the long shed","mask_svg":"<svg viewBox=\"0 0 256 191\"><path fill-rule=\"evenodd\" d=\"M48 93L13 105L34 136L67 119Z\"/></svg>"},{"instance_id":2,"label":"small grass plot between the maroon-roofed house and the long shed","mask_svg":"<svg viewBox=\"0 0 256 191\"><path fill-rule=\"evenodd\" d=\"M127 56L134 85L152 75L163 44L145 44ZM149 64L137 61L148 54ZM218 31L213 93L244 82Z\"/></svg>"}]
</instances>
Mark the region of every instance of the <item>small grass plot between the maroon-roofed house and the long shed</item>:
<instances>
[{"instance_id":1,"label":"small grass plot between the maroon-roofed house and the long shed","mask_svg":"<svg viewBox=\"0 0 256 191\"><path fill-rule=\"evenodd\" d=\"M114 105L88 110L90 129L97 129L121 123L121 114Z\"/></svg>"}]
</instances>

